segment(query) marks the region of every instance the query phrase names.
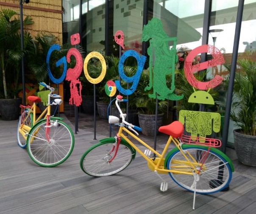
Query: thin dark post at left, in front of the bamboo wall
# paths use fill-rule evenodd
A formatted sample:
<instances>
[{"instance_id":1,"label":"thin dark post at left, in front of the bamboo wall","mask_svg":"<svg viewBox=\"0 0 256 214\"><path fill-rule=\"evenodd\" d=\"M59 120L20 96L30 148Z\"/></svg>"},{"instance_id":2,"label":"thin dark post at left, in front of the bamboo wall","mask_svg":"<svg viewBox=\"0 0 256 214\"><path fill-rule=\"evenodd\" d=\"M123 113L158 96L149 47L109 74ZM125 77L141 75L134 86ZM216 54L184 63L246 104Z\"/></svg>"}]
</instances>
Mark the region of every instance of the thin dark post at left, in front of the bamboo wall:
<instances>
[{"instance_id":1,"label":"thin dark post at left, in front of the bamboo wall","mask_svg":"<svg viewBox=\"0 0 256 214\"><path fill-rule=\"evenodd\" d=\"M21 44L21 51L23 52L24 49L24 38L23 38L23 4L29 3L29 0L19 0L19 13L20 13L20 44ZM26 105L26 94L25 94L25 73L24 73L24 56L21 56L21 73L22 73L22 99L23 105Z\"/></svg>"}]
</instances>

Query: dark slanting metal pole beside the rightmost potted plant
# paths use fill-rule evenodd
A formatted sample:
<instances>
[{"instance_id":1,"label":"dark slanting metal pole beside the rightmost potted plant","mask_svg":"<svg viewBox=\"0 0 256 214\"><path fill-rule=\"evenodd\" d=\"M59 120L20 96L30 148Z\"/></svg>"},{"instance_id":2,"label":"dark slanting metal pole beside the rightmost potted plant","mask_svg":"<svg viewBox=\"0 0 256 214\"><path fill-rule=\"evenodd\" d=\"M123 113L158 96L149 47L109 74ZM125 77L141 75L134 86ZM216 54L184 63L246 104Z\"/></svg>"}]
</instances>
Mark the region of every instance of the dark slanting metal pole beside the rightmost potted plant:
<instances>
[{"instance_id":1,"label":"dark slanting metal pole beside the rightmost potted plant","mask_svg":"<svg viewBox=\"0 0 256 214\"><path fill-rule=\"evenodd\" d=\"M228 127L229 127L229 119L230 119L230 112L231 112L234 80L236 76L237 55L238 55L243 9L244 9L244 0L239 0L238 10L237 10L237 23L236 23L236 30L235 30L235 37L234 37L234 46L232 51L233 54L232 54L232 60L231 60L231 69L230 69L228 92L227 92L227 103L225 108L225 118L224 118L225 126L223 127L222 146L220 148L221 151L224 153L226 152L226 144L228 141Z\"/></svg>"}]
</instances>

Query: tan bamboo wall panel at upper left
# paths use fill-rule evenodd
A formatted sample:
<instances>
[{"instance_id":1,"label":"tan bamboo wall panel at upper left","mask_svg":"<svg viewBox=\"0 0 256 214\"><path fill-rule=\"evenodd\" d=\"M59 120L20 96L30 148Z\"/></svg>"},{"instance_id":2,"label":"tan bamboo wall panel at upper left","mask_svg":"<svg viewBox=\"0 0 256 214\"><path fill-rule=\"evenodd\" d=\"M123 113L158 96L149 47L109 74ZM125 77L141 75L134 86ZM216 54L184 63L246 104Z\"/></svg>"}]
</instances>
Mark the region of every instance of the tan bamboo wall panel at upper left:
<instances>
[{"instance_id":1,"label":"tan bamboo wall panel at upper left","mask_svg":"<svg viewBox=\"0 0 256 214\"><path fill-rule=\"evenodd\" d=\"M24 26L33 37L38 33L53 34L62 44L62 0L33 0L23 5L23 19L31 16L34 24ZM19 0L0 0L0 9L10 8L19 12Z\"/></svg>"}]
</instances>

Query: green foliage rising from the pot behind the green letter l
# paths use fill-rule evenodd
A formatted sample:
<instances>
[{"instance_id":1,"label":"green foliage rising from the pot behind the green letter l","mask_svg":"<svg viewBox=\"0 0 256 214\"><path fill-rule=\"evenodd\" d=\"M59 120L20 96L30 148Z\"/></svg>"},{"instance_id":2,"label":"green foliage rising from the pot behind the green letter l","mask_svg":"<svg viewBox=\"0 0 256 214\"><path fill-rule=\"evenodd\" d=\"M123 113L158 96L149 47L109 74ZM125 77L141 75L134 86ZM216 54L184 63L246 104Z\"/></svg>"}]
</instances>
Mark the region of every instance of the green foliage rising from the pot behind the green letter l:
<instances>
[{"instance_id":1,"label":"green foliage rising from the pot behind the green letter l","mask_svg":"<svg viewBox=\"0 0 256 214\"><path fill-rule=\"evenodd\" d=\"M153 89L145 91L149 83L149 70L143 70L141 78L139 80L138 87L134 92L134 102L139 112L142 114L156 114L156 99L149 98L148 94L153 93ZM159 100L158 113L163 113L167 110L168 102L165 100Z\"/></svg>"}]
</instances>

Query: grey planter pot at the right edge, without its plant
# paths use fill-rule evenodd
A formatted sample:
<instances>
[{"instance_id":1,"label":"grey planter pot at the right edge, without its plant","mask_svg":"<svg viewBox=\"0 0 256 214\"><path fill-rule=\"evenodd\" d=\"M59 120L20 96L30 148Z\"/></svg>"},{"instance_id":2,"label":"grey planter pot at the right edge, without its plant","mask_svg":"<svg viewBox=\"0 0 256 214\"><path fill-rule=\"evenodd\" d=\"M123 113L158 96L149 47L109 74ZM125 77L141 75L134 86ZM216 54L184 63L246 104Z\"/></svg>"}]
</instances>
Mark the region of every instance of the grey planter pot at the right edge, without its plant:
<instances>
[{"instance_id":1,"label":"grey planter pot at the right edge, without its plant","mask_svg":"<svg viewBox=\"0 0 256 214\"><path fill-rule=\"evenodd\" d=\"M233 133L238 160L244 165L256 166L256 136L244 135L239 129Z\"/></svg>"}]
</instances>

